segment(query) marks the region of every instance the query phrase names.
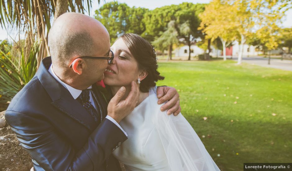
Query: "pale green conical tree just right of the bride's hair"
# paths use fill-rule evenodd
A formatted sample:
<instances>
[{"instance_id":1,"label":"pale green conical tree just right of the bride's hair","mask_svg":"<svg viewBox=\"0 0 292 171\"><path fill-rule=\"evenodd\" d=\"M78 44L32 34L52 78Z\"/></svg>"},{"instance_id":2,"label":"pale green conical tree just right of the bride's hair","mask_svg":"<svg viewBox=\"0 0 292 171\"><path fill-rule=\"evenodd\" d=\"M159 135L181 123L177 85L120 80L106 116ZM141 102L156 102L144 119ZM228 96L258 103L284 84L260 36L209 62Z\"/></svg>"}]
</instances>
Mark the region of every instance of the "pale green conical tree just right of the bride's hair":
<instances>
[{"instance_id":1,"label":"pale green conical tree just right of the bride's hair","mask_svg":"<svg viewBox=\"0 0 292 171\"><path fill-rule=\"evenodd\" d=\"M177 44L178 41L178 33L175 28L175 21L169 21L168 23L168 29L161 34L160 37L158 37L155 41L152 42L154 46L157 47L157 49L164 51L164 49L168 48L168 59L171 60L172 58L172 49L173 45Z\"/></svg>"}]
</instances>

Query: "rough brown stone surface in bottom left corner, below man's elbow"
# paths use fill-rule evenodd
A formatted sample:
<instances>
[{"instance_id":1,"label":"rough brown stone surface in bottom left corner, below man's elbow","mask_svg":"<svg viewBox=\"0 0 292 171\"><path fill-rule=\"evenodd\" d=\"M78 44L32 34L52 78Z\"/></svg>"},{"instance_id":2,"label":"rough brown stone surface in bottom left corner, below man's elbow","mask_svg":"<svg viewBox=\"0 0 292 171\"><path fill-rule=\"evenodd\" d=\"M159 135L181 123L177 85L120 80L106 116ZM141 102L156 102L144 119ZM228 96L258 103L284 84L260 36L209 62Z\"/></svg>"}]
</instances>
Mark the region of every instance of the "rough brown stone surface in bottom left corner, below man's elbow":
<instances>
[{"instance_id":1,"label":"rough brown stone surface in bottom left corner, below man's elbow","mask_svg":"<svg viewBox=\"0 0 292 171\"><path fill-rule=\"evenodd\" d=\"M22 148L15 134L0 136L0 170L27 171L32 166L30 155Z\"/></svg>"}]
</instances>

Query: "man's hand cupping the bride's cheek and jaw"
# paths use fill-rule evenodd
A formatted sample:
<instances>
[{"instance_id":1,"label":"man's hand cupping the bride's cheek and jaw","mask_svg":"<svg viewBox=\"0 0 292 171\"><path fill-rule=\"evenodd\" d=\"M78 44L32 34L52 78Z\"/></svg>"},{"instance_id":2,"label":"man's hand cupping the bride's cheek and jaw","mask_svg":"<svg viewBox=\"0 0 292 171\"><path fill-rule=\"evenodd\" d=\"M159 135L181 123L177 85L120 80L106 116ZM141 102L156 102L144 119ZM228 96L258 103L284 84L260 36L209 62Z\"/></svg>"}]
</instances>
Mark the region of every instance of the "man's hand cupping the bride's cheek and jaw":
<instances>
[{"instance_id":1,"label":"man's hand cupping the bride's cheek and jaw","mask_svg":"<svg viewBox=\"0 0 292 171\"><path fill-rule=\"evenodd\" d=\"M139 99L139 88L135 81L131 83L131 91L127 98L121 100L125 95L125 90L125 87L121 87L107 105L107 115L118 123L134 110Z\"/></svg>"}]
</instances>

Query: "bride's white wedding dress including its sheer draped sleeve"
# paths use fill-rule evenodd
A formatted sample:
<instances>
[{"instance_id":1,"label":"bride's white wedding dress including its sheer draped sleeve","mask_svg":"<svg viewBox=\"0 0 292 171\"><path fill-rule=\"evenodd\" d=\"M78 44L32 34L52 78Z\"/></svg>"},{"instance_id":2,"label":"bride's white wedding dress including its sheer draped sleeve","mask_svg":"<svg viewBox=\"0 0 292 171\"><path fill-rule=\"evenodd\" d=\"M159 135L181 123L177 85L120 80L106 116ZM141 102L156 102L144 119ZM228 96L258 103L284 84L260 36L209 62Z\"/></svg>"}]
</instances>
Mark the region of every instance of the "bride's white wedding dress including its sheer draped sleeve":
<instances>
[{"instance_id":1,"label":"bride's white wedding dress including its sheer draped sleeve","mask_svg":"<svg viewBox=\"0 0 292 171\"><path fill-rule=\"evenodd\" d=\"M127 171L220 170L189 122L161 112L156 87L121 122L128 139L113 155Z\"/></svg>"}]
</instances>

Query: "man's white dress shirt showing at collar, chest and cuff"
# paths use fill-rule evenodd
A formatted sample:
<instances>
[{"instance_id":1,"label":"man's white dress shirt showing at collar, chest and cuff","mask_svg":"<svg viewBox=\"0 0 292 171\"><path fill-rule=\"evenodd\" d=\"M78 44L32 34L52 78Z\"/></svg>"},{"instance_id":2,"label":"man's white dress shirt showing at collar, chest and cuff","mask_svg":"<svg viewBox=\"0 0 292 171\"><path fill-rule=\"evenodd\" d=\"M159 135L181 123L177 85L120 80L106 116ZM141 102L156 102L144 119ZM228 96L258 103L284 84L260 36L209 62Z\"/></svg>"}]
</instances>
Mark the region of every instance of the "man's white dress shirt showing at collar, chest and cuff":
<instances>
[{"instance_id":1,"label":"man's white dress shirt showing at collar, chest and cuff","mask_svg":"<svg viewBox=\"0 0 292 171\"><path fill-rule=\"evenodd\" d=\"M78 90L78 89L75 89L73 87L71 87L70 85L64 83L62 80L60 80L60 78L55 74L55 72L53 71L53 67L51 65L51 67L49 68L48 72L50 72L52 74L52 76L60 83L62 84L69 92L70 94L72 95L72 97L74 99L77 99L77 97L79 97L79 95L81 94L82 90ZM92 88L92 85L90 85L87 89L91 89ZM92 94L91 92L89 91L89 101L91 102L91 104L94 106L94 108L96 109L96 104L95 104L95 101L93 100L93 97L92 97ZM123 128L118 124L118 122L116 122L115 119L113 119L112 117L110 116L106 116L105 118L107 118L108 120L112 121L114 124L116 124L117 127L119 127L126 136L127 133L123 130Z\"/></svg>"}]
</instances>

